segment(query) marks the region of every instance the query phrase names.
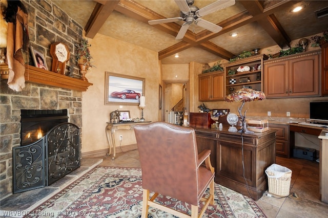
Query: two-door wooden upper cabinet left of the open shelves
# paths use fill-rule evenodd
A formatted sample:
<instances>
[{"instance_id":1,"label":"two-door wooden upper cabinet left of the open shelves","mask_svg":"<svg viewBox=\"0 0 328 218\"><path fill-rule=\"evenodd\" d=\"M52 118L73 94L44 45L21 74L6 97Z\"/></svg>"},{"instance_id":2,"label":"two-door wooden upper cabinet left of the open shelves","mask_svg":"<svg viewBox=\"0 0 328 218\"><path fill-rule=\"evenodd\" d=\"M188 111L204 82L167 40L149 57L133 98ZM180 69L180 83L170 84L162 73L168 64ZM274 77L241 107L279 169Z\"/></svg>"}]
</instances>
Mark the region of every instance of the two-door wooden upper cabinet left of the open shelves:
<instances>
[{"instance_id":1,"label":"two-door wooden upper cabinet left of the open shelves","mask_svg":"<svg viewBox=\"0 0 328 218\"><path fill-rule=\"evenodd\" d=\"M199 101L224 99L224 72L215 71L198 75Z\"/></svg>"}]
</instances>

